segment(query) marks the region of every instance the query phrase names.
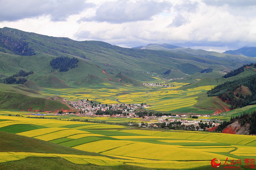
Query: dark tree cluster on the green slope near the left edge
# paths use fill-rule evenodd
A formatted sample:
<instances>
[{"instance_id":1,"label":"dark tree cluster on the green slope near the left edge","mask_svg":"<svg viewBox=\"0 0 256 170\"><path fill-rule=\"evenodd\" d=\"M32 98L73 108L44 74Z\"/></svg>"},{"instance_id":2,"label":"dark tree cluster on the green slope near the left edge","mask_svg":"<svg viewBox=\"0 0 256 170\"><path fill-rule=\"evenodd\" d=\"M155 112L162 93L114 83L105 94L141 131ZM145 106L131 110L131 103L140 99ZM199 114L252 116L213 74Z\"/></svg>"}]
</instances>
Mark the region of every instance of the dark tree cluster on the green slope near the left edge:
<instances>
[{"instance_id":1,"label":"dark tree cluster on the green slope near the left edge","mask_svg":"<svg viewBox=\"0 0 256 170\"><path fill-rule=\"evenodd\" d=\"M25 78L26 76L33 74L33 71L24 71L24 70L20 70L18 73L13 74L12 76L6 77L4 79L4 83L6 84L24 84L27 79ZM16 77L22 77L22 78L16 78Z\"/></svg>"}]
</instances>

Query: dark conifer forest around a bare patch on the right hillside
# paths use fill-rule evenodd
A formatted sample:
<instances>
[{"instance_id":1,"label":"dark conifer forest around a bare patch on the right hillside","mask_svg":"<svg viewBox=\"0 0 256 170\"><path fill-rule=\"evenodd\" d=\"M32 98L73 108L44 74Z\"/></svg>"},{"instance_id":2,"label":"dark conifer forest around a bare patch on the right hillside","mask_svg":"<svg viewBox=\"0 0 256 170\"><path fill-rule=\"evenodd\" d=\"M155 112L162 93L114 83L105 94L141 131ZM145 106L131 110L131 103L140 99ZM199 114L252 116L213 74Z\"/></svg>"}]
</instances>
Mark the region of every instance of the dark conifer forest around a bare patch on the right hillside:
<instances>
[{"instance_id":1,"label":"dark conifer forest around a bare patch on the right hillside","mask_svg":"<svg viewBox=\"0 0 256 170\"><path fill-rule=\"evenodd\" d=\"M246 86L252 92L251 95L234 95L234 91L241 86ZM244 107L256 103L256 74L248 77L227 81L215 86L207 92L208 96L218 96L224 102L231 105L231 110L237 107Z\"/></svg>"}]
</instances>

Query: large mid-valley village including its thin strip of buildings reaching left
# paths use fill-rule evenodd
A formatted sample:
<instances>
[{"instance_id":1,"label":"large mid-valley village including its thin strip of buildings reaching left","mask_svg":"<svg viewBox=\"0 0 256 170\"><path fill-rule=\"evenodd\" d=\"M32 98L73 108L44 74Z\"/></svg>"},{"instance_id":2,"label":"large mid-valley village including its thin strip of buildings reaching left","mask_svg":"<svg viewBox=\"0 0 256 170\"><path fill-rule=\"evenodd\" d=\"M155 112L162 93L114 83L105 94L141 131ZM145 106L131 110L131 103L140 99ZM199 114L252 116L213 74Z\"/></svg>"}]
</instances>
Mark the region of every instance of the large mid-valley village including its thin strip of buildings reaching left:
<instances>
[{"instance_id":1,"label":"large mid-valley village including its thin strip of buildings reaching left","mask_svg":"<svg viewBox=\"0 0 256 170\"><path fill-rule=\"evenodd\" d=\"M160 112L152 112L147 110L150 107L146 103L141 104L96 104L95 101L78 100L78 101L68 101L71 107L74 107L73 112L63 112L58 111L58 113L28 113L27 115L75 115L79 117L112 117L112 118L141 118L141 123L137 123L141 127L159 127L161 125L184 125L189 128L194 128L197 130L211 129L220 124L220 120L216 122L210 119L208 114L163 114ZM144 114L143 114L144 113ZM147 113L147 114L145 114ZM201 117L201 118L200 118ZM135 120L134 120L135 121ZM147 123L144 123L147 122Z\"/></svg>"}]
</instances>

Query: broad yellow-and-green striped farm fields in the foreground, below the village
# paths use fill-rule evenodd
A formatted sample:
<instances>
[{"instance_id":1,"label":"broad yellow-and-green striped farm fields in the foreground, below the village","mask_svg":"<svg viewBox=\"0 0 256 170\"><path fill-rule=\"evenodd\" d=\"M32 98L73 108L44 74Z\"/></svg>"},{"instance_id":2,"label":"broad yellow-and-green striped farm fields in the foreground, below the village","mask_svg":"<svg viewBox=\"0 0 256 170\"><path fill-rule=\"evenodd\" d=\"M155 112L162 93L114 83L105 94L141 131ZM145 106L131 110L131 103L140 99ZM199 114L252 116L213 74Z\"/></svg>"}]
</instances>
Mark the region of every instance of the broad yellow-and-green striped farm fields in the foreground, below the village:
<instances>
[{"instance_id":1,"label":"broad yellow-and-green striped farm fields in the foreground, below the village","mask_svg":"<svg viewBox=\"0 0 256 170\"><path fill-rule=\"evenodd\" d=\"M1 151L0 162L28 157L63 158L79 165L135 165L157 169L211 167L211 160L244 160L256 155L256 136L210 132L154 131L123 126L0 115L0 131L95 153L81 155ZM12 126L22 129L17 132ZM28 128L34 126L34 129ZM7 128L8 127L8 128ZM103 128L104 127L104 128ZM242 165L244 162L241 162ZM242 167L241 165L241 167Z\"/></svg>"}]
</instances>

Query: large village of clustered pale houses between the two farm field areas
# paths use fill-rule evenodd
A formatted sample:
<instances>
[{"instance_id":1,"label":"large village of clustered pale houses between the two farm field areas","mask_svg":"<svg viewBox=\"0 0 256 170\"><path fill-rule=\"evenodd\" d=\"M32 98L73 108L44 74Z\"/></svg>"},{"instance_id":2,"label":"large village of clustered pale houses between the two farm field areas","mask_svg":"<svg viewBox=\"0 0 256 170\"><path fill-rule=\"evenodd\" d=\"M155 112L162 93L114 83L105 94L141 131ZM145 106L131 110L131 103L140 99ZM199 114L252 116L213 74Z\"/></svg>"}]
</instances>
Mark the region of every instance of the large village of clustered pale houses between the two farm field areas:
<instances>
[{"instance_id":1,"label":"large village of clustered pale houses between the two farm field areas","mask_svg":"<svg viewBox=\"0 0 256 170\"><path fill-rule=\"evenodd\" d=\"M181 125L190 126L193 125L199 126L200 123L205 124L206 128L211 128L219 125L219 123L215 123L210 119L210 115L207 114L171 114L171 115L163 115L163 114L150 114L141 115L143 110L147 110L147 107L150 107L146 103L141 104L125 104L125 103L117 103L117 104L96 104L94 101L87 100L78 100L69 101L70 106L74 107L77 112L76 113L64 113L64 114L74 114L82 117L115 117L115 118L142 118L142 122L148 122L147 124L152 124L151 126L156 126L155 123L171 123L171 122L180 122ZM203 117L202 119L198 119L198 117ZM141 123L139 123L141 125ZM202 127L202 126L201 126ZM203 127L202 127L203 129ZM201 130L202 130L201 129Z\"/></svg>"}]
</instances>

